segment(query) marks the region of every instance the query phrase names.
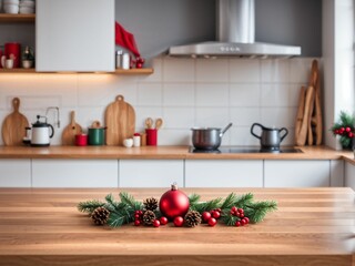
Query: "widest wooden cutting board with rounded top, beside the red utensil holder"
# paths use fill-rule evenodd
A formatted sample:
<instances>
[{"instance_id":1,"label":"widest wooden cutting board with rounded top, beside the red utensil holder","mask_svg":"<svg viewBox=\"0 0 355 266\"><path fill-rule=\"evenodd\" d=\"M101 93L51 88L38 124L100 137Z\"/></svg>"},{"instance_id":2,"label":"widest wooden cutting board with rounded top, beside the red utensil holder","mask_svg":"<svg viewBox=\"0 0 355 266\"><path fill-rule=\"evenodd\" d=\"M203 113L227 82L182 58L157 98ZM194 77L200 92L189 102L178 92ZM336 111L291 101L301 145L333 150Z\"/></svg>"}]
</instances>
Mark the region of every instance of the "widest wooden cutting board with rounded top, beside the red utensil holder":
<instances>
[{"instance_id":1,"label":"widest wooden cutting board with rounded top, beside the red utensil holder","mask_svg":"<svg viewBox=\"0 0 355 266\"><path fill-rule=\"evenodd\" d=\"M104 122L106 126L106 145L123 146L123 140L132 137L135 126L135 112L131 104L124 102L122 95L105 110Z\"/></svg>"}]
</instances>

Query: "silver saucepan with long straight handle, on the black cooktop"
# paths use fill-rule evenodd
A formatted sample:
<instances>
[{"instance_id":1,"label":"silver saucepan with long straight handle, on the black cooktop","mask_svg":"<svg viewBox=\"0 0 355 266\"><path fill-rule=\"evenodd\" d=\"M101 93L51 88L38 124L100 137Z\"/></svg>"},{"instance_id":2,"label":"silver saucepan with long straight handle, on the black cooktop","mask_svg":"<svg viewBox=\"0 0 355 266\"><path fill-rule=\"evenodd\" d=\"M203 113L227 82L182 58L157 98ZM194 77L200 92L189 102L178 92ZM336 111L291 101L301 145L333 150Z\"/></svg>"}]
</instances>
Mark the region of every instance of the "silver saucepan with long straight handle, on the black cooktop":
<instances>
[{"instance_id":1,"label":"silver saucepan with long straight handle, on the black cooktop","mask_svg":"<svg viewBox=\"0 0 355 266\"><path fill-rule=\"evenodd\" d=\"M212 151L217 150L222 142L222 136L232 126L230 123L225 129L217 127L193 127L192 144L197 150Z\"/></svg>"}]
</instances>

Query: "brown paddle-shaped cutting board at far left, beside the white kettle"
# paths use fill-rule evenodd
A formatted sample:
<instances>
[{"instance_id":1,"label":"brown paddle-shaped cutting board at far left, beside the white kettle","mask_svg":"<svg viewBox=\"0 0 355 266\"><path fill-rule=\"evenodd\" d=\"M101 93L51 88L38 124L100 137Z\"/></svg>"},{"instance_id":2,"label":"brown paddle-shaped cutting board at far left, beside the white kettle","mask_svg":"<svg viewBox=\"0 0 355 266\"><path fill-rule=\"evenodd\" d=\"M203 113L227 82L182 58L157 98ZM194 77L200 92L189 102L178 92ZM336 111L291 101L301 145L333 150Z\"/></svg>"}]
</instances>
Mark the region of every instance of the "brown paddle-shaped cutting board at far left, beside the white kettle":
<instances>
[{"instance_id":1,"label":"brown paddle-shaped cutting board at far left, beside the white kettle","mask_svg":"<svg viewBox=\"0 0 355 266\"><path fill-rule=\"evenodd\" d=\"M27 117L19 112L20 99L12 99L13 112L9 114L2 123L1 134L6 146L22 145L23 136L26 136L26 127L29 126Z\"/></svg>"}]
</instances>

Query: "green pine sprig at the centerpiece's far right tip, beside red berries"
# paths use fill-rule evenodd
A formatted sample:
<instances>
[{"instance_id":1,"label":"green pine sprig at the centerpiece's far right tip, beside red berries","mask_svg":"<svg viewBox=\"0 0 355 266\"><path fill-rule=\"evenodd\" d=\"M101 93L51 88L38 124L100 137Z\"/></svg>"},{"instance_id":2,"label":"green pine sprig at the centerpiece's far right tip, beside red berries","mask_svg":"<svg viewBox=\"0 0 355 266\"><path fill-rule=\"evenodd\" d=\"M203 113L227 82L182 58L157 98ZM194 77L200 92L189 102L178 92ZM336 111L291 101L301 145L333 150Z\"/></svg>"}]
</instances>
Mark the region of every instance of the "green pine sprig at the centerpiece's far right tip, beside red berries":
<instances>
[{"instance_id":1,"label":"green pine sprig at the centerpiece's far right tip, beside red berries","mask_svg":"<svg viewBox=\"0 0 355 266\"><path fill-rule=\"evenodd\" d=\"M250 218L251 223L260 223L264 219L265 215L270 212L277 209L277 203L274 201L264 201L250 203L244 209L245 216Z\"/></svg>"}]
</instances>

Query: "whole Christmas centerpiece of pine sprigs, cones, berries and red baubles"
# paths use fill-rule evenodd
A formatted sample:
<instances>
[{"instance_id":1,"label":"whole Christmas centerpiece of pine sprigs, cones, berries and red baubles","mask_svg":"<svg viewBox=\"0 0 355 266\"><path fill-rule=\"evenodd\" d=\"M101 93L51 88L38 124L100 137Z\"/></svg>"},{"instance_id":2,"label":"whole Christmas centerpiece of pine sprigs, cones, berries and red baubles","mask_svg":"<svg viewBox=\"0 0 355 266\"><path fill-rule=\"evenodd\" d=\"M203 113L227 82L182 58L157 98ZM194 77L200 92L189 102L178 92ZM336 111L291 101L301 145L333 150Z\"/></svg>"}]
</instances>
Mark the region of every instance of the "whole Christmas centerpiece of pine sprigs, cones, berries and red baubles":
<instances>
[{"instance_id":1,"label":"whole Christmas centerpiece of pine sprigs, cones, berries and red baubles","mask_svg":"<svg viewBox=\"0 0 355 266\"><path fill-rule=\"evenodd\" d=\"M275 211L274 201L254 202L252 193L237 196L230 193L225 198L217 197L201 202L201 196L185 195L176 184L165 192L160 200L155 197L136 201L126 192L119 194L115 201L112 194L105 201L90 200L78 204L78 209L89 213L95 225L108 224L120 227L124 224L159 227L172 222L176 227L195 227L201 223L214 226L221 223L229 226L243 226L262 222L268 212Z\"/></svg>"}]
</instances>

